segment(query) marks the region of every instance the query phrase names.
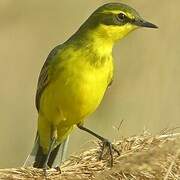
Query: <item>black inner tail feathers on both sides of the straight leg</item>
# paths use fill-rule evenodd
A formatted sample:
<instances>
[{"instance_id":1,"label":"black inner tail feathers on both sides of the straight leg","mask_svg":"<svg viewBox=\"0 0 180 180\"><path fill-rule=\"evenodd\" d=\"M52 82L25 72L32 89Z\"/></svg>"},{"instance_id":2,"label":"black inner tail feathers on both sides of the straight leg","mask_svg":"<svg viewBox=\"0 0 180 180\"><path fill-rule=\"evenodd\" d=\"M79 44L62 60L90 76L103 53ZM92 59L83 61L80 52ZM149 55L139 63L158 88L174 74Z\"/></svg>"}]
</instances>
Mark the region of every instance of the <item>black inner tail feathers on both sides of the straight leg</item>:
<instances>
[{"instance_id":1,"label":"black inner tail feathers on both sides of the straight leg","mask_svg":"<svg viewBox=\"0 0 180 180\"><path fill-rule=\"evenodd\" d=\"M56 159L59 148L60 148L60 144L55 149L53 149L53 151L51 152L51 154L49 156L47 164L50 168L52 167L54 160ZM47 157L47 154L44 154L42 147L39 145L33 167L43 168L44 163L46 161L46 157Z\"/></svg>"}]
</instances>

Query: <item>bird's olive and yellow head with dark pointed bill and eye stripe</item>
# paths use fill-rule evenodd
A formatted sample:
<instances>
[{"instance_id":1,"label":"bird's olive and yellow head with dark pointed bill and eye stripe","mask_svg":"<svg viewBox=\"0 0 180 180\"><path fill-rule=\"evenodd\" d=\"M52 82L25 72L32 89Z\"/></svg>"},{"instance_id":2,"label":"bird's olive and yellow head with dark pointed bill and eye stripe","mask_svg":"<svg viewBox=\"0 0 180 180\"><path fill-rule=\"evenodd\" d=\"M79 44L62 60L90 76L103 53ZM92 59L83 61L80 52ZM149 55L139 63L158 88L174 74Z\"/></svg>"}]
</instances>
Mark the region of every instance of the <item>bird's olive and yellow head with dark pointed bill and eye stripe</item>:
<instances>
[{"instance_id":1,"label":"bird's olive and yellow head with dark pointed bill and eye stripe","mask_svg":"<svg viewBox=\"0 0 180 180\"><path fill-rule=\"evenodd\" d=\"M108 3L99 7L81 28L95 32L98 37L116 41L139 27L157 28L130 6Z\"/></svg>"}]
</instances>

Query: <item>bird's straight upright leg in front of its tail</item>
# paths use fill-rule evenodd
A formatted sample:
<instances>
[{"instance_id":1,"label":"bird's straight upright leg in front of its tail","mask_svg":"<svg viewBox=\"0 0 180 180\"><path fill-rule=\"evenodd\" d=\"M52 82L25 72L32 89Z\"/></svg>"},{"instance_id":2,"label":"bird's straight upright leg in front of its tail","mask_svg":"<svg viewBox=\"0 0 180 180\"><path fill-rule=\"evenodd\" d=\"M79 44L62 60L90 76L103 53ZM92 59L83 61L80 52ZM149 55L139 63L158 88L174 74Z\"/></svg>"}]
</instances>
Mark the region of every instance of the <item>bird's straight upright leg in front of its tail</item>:
<instances>
[{"instance_id":1,"label":"bird's straight upright leg in front of its tail","mask_svg":"<svg viewBox=\"0 0 180 180\"><path fill-rule=\"evenodd\" d=\"M46 160L43 165L43 172L44 172L45 176L47 175L47 169L49 168L49 166L48 166L49 157L50 157L51 151L56 143L56 140L57 140L57 130L54 130L52 133L52 138L51 138L50 146L49 146L48 153L46 156Z\"/></svg>"}]
</instances>

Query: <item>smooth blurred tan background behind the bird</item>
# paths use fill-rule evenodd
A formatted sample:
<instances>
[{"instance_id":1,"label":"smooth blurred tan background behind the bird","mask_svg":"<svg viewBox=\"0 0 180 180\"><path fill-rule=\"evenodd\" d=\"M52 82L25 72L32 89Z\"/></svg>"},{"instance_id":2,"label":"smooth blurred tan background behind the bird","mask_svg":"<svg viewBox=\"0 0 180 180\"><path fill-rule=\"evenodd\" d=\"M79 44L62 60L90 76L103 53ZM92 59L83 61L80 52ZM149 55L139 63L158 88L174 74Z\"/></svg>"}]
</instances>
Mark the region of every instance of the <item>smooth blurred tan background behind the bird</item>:
<instances>
[{"instance_id":1,"label":"smooth blurred tan background behind the bird","mask_svg":"<svg viewBox=\"0 0 180 180\"><path fill-rule=\"evenodd\" d=\"M107 2L0 0L0 168L21 166L31 151L37 78L48 53ZM113 85L86 121L111 140L180 126L180 1L121 2L160 28L139 29L114 48ZM75 129L68 153L88 149L93 139Z\"/></svg>"}]
</instances>

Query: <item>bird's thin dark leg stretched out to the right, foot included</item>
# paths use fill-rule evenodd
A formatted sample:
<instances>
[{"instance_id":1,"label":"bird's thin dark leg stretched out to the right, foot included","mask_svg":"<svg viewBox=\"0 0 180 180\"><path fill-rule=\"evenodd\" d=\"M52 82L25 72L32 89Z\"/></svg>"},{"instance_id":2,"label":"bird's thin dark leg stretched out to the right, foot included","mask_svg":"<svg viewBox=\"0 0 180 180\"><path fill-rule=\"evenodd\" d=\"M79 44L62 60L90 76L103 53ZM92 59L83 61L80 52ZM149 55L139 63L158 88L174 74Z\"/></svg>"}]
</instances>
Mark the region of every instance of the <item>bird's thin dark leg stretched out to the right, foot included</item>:
<instances>
[{"instance_id":1,"label":"bird's thin dark leg stretched out to the right, foot included","mask_svg":"<svg viewBox=\"0 0 180 180\"><path fill-rule=\"evenodd\" d=\"M110 153L110 157L111 157L111 167L112 167L113 166L113 153L112 153L112 151L114 150L118 155L120 155L120 152L112 145L112 143L108 139L103 138L102 136L91 131L90 129L85 128L81 124L77 124L77 127L83 131L90 133L91 135L95 136L96 138L98 138L99 140L102 141L102 149L101 149L101 153L99 156L100 160L102 159L105 147L109 148L109 153Z\"/></svg>"}]
</instances>

